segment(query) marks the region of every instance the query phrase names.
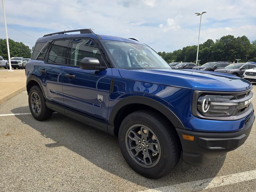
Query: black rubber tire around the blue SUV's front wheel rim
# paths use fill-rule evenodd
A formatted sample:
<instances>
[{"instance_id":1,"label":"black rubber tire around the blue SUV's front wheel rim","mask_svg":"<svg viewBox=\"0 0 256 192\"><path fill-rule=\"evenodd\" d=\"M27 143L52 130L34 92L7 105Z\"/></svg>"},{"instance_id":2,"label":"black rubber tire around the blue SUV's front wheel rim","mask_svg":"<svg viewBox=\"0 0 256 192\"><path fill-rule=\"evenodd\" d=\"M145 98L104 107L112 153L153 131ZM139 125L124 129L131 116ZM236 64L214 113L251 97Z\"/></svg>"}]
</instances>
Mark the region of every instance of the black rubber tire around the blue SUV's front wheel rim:
<instances>
[{"instance_id":1,"label":"black rubber tire around the blue SUV's front wheel rim","mask_svg":"<svg viewBox=\"0 0 256 192\"><path fill-rule=\"evenodd\" d=\"M124 119L120 126L119 131L119 145L121 148L121 152L126 160L126 162L132 167L136 172L146 176L148 178L160 178L164 176L170 168L176 165L175 162L172 162L172 148L168 147L173 145L173 143L169 140L168 136L166 136L166 132L162 128L162 125L157 123L158 121L154 121L154 119L148 118L143 115L129 115ZM155 134L159 140L161 147L161 157L159 162L152 168L145 168L138 165L130 156L127 148L126 148L126 132L130 128L130 126L134 124L143 124L149 127Z\"/></svg>"}]
</instances>

